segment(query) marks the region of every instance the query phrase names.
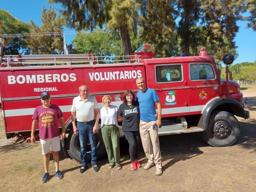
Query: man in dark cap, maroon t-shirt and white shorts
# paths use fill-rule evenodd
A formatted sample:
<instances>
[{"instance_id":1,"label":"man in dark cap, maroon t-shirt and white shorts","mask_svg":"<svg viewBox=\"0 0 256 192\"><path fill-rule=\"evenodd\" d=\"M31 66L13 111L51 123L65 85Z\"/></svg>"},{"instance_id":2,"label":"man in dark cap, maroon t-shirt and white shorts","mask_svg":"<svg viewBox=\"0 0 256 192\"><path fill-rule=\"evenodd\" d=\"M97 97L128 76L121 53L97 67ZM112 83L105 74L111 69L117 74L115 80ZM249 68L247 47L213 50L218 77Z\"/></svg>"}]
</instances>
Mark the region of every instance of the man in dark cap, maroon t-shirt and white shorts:
<instances>
[{"instance_id":1,"label":"man in dark cap, maroon t-shirt and white shorts","mask_svg":"<svg viewBox=\"0 0 256 192\"><path fill-rule=\"evenodd\" d=\"M33 114L31 141L36 142L34 133L39 122L39 138L42 145L43 163L45 174L42 178L42 183L49 179L49 161L50 161L50 147L52 149L53 160L55 164L55 175L58 179L63 178L62 173L59 171L59 151L60 151L60 132L58 127L58 119L62 126L62 138L66 137L65 123L62 111L57 105L50 103L50 94L43 92L41 94L42 105L36 107Z\"/></svg>"}]
</instances>

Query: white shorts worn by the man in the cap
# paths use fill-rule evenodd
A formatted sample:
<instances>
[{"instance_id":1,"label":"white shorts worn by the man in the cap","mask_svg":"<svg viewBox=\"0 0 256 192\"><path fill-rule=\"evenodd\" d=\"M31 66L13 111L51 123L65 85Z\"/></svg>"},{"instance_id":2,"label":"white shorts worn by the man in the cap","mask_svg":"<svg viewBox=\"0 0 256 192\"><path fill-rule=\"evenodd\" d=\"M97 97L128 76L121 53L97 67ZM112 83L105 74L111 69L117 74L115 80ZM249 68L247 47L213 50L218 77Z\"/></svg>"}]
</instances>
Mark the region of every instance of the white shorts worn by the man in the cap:
<instances>
[{"instance_id":1,"label":"white shorts worn by the man in the cap","mask_svg":"<svg viewBox=\"0 0 256 192\"><path fill-rule=\"evenodd\" d=\"M42 145L43 155L50 153L50 147L54 152L60 151L60 136L48 139L40 139L40 142Z\"/></svg>"}]
</instances>

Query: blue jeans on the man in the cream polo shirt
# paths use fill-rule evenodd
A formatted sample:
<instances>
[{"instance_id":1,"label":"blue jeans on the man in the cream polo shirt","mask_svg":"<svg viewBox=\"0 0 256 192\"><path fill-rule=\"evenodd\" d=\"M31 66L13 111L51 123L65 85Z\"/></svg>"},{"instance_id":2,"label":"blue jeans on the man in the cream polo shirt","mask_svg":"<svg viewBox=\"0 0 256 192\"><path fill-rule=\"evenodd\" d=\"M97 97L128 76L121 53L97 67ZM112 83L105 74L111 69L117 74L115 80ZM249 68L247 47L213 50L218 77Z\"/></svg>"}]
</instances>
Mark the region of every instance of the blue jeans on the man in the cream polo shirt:
<instances>
[{"instance_id":1,"label":"blue jeans on the man in the cream polo shirt","mask_svg":"<svg viewBox=\"0 0 256 192\"><path fill-rule=\"evenodd\" d=\"M87 145L87 137L89 138L89 142L91 145L91 164L96 163L97 156L96 156L96 138L95 134L92 132L93 129L92 124L84 124L81 122L77 122L77 128L79 132L79 140L80 140L80 152L81 152L81 159L82 165L87 165L86 159L86 145Z\"/></svg>"}]
</instances>

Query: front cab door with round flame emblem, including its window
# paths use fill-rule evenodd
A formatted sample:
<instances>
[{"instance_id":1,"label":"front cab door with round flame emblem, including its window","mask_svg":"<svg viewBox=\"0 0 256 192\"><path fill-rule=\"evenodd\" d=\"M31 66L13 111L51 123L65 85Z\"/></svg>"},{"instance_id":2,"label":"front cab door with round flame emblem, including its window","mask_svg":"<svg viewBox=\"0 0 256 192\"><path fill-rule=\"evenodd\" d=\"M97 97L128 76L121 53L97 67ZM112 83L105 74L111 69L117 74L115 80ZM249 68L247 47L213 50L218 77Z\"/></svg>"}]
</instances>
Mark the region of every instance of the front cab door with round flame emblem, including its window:
<instances>
[{"instance_id":1,"label":"front cab door with round flame emblem, including its window","mask_svg":"<svg viewBox=\"0 0 256 192\"><path fill-rule=\"evenodd\" d=\"M211 63L189 64L190 114L200 113L206 103L218 96L217 68Z\"/></svg>"}]
</instances>

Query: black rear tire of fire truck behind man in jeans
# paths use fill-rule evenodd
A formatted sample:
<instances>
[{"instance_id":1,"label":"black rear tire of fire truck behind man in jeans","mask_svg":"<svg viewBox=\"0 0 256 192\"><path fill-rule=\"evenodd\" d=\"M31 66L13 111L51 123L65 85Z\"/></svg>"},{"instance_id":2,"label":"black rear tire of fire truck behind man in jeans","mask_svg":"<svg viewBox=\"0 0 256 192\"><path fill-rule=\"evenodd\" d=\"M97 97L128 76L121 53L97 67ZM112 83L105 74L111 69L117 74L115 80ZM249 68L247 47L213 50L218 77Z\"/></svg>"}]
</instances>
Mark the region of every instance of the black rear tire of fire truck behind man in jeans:
<instances>
[{"instance_id":1,"label":"black rear tire of fire truck behind man in jeans","mask_svg":"<svg viewBox=\"0 0 256 192\"><path fill-rule=\"evenodd\" d=\"M97 154L97 160L101 160L103 157L106 156L107 151L105 148L105 144L102 139L101 129L98 129L98 133L96 133L96 154ZM80 141L79 141L79 135L76 135L74 132L69 133L68 136L68 153L70 157L78 162L82 162L81 155L80 155ZM89 141L87 141L87 162L91 162L91 148Z\"/></svg>"}]
</instances>

